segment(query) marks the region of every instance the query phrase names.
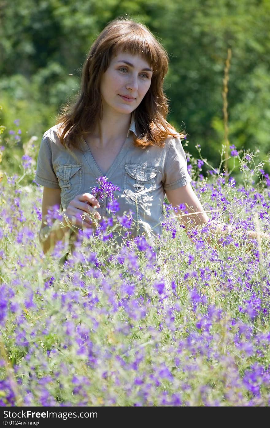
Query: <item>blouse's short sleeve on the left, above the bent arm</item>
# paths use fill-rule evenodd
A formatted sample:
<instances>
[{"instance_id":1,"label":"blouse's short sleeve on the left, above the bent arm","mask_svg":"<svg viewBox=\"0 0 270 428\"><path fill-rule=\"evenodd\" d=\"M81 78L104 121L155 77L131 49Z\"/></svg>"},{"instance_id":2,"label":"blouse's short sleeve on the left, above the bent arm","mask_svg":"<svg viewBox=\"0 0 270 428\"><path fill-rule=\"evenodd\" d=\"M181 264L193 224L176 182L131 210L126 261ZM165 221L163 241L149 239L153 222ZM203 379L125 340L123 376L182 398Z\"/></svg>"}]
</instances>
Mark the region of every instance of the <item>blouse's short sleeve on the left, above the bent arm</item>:
<instances>
[{"instance_id":1,"label":"blouse's short sleeve on the left, above the bent arm","mask_svg":"<svg viewBox=\"0 0 270 428\"><path fill-rule=\"evenodd\" d=\"M48 141L49 140L49 141ZM45 134L41 140L38 152L37 170L35 181L41 186L59 189L59 182L53 170L53 156L50 147L50 139Z\"/></svg>"}]
</instances>

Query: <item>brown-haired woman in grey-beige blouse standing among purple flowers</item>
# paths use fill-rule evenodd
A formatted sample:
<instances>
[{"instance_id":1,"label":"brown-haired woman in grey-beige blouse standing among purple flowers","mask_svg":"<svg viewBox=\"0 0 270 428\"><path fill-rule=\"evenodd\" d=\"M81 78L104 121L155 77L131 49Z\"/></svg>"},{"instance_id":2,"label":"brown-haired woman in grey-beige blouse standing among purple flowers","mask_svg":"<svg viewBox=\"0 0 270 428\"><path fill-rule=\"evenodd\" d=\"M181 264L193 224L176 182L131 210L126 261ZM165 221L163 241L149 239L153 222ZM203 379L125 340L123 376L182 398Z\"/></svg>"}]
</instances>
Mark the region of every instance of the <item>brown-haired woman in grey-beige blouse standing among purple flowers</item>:
<instances>
[{"instance_id":1,"label":"brown-haired woman in grey-beige blouse standing among purple flowers","mask_svg":"<svg viewBox=\"0 0 270 428\"><path fill-rule=\"evenodd\" d=\"M107 200L91 194L106 175L117 185L119 214L131 210L137 233L161 233L164 195L187 206L196 224L207 215L190 185L181 137L166 121L163 81L168 57L142 24L117 19L91 47L76 103L45 132L35 180L44 186L40 241L44 253L70 231L106 217ZM66 222L46 226L48 209L62 206ZM192 214L198 213L198 214Z\"/></svg>"}]
</instances>

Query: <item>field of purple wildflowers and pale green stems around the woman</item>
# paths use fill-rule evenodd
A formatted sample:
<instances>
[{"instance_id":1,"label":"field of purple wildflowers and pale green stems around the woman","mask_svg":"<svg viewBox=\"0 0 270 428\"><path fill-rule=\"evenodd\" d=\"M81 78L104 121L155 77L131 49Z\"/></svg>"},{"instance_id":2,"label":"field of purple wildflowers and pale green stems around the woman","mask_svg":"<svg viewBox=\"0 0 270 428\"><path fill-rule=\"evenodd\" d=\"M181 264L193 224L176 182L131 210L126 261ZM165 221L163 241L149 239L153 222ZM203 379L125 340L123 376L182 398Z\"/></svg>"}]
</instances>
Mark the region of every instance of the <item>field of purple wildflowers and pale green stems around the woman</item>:
<instances>
[{"instance_id":1,"label":"field of purple wildflowers and pale green stems around the woman","mask_svg":"<svg viewBox=\"0 0 270 428\"><path fill-rule=\"evenodd\" d=\"M33 140L26 149L21 175L0 183L0 404L268 405L270 178L256 153L231 147L241 184L223 160L188 156L211 217L189 237L168 205L154 240L129 240L116 212L99 234L80 231L63 262L64 244L44 255L38 242L43 188L24 184Z\"/></svg>"}]
</instances>

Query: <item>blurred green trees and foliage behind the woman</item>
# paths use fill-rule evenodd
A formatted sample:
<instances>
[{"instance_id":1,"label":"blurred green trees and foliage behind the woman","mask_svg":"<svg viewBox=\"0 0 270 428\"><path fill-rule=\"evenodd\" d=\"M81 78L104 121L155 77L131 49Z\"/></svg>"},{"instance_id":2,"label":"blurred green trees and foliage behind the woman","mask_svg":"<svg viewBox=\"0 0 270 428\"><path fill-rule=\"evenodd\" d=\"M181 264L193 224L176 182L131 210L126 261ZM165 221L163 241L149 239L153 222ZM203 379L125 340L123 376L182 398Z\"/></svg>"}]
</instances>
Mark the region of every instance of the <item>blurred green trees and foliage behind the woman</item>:
<instances>
[{"instance_id":1,"label":"blurred green trees and foliage behind the woman","mask_svg":"<svg viewBox=\"0 0 270 428\"><path fill-rule=\"evenodd\" d=\"M228 48L229 141L270 151L269 0L0 0L3 166L16 169L23 143L41 138L73 98L85 56L112 19L146 24L170 56L169 120L188 133L191 154L218 163L224 142L223 76ZM20 119L21 140L9 131ZM17 159L17 160L16 160ZM266 166L267 169L267 166Z\"/></svg>"}]
</instances>

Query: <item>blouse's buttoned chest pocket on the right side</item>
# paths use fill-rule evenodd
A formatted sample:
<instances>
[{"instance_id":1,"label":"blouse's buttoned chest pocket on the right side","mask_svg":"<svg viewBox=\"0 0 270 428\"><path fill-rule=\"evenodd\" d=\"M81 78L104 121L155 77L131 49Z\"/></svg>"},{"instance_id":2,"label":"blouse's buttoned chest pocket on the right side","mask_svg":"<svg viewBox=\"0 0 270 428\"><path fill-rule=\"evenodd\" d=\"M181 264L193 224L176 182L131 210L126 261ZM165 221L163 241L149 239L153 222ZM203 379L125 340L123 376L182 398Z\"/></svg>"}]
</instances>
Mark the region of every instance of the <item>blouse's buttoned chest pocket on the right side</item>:
<instances>
[{"instance_id":1,"label":"blouse's buttoned chest pocket on the right side","mask_svg":"<svg viewBox=\"0 0 270 428\"><path fill-rule=\"evenodd\" d=\"M125 163L124 168L123 191L126 196L139 204L147 202L156 188L158 170L135 163Z\"/></svg>"}]
</instances>

